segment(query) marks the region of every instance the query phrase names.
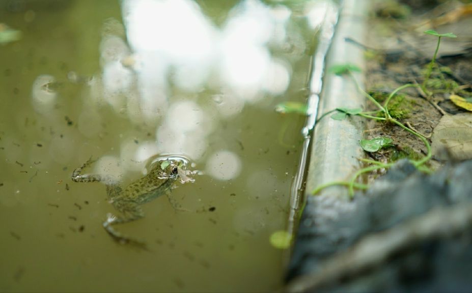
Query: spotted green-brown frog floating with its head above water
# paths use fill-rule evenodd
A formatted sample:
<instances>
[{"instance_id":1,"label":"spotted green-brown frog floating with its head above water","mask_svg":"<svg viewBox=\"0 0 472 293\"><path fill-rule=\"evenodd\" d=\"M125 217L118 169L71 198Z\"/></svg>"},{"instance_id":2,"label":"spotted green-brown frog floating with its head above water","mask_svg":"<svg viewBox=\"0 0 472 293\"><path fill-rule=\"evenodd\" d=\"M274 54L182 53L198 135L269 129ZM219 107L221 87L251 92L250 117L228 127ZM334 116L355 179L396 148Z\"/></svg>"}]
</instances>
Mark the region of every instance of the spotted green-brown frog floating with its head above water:
<instances>
[{"instance_id":1,"label":"spotted green-brown frog floating with its head above water","mask_svg":"<svg viewBox=\"0 0 472 293\"><path fill-rule=\"evenodd\" d=\"M125 188L122 188L116 181L107 175L82 174L82 171L92 165L96 160L90 158L72 172L73 182L90 183L101 182L105 184L108 202L112 203L115 209L120 213L116 216L112 213L106 215L103 222L108 235L115 241L126 244L135 244L145 247L145 243L123 235L113 226L117 224L128 223L143 218L144 212L141 205L157 197L166 194L169 202L175 210L186 211L176 206L170 197L171 189L175 187L175 182L180 179L181 183L194 182L195 179L189 177L185 168L187 160L182 156L165 156L158 158L150 164L150 171L141 179L131 182ZM188 174L195 174L196 171L189 171Z\"/></svg>"}]
</instances>

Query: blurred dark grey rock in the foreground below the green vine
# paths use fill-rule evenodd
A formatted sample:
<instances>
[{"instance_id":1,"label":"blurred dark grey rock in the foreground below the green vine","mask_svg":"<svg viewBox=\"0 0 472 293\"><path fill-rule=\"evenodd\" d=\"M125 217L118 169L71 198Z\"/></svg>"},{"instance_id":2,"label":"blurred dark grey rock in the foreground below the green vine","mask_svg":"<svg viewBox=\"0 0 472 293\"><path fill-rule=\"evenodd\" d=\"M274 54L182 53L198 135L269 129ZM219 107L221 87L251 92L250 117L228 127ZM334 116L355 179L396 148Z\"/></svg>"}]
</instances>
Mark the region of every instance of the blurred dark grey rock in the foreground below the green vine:
<instances>
[{"instance_id":1,"label":"blurred dark grey rock in the foreground below the green vine","mask_svg":"<svg viewBox=\"0 0 472 293\"><path fill-rule=\"evenodd\" d=\"M401 161L354 200L310 196L288 291L471 291L472 161Z\"/></svg>"}]
</instances>

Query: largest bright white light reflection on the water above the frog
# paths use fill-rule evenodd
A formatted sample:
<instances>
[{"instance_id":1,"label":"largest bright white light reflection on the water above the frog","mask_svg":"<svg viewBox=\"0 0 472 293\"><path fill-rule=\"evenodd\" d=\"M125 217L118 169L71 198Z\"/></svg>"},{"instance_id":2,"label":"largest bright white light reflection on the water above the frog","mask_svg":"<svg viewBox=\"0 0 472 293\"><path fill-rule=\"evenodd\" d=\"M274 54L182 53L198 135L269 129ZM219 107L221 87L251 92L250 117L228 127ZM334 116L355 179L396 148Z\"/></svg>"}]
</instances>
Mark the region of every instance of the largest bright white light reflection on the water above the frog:
<instances>
[{"instance_id":1,"label":"largest bright white light reflection on the water above the frog","mask_svg":"<svg viewBox=\"0 0 472 293\"><path fill-rule=\"evenodd\" d=\"M104 95L116 111L127 112L134 123L160 124L159 153L198 159L218 117L233 116L244 103L257 102L266 93L287 90L291 67L268 49L269 43L285 40L291 14L287 8L244 1L221 29L188 0L125 0L122 9L131 50L121 36L105 34L102 90L95 86L95 93ZM214 106L220 115L209 118L195 102L170 104L173 86L184 92L217 89L221 94ZM184 93L180 98L190 97Z\"/></svg>"}]
</instances>

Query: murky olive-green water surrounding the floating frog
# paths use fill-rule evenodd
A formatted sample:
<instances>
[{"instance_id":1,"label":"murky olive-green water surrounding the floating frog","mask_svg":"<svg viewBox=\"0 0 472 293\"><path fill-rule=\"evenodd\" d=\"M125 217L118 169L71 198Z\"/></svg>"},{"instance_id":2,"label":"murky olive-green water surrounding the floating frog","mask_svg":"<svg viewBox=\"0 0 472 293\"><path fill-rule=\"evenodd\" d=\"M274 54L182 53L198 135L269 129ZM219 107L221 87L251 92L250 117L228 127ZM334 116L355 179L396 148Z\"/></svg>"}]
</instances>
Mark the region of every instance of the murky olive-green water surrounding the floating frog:
<instances>
[{"instance_id":1,"label":"murky olive-green water surrounding the floating frog","mask_svg":"<svg viewBox=\"0 0 472 293\"><path fill-rule=\"evenodd\" d=\"M267 291L282 284L312 52L310 5L258 1L2 1L22 32L0 44L0 291ZM310 4L310 5L309 5ZM312 5L313 6L313 5ZM312 19L312 22L314 20ZM113 241L100 183L149 157L201 170Z\"/></svg>"}]
</instances>

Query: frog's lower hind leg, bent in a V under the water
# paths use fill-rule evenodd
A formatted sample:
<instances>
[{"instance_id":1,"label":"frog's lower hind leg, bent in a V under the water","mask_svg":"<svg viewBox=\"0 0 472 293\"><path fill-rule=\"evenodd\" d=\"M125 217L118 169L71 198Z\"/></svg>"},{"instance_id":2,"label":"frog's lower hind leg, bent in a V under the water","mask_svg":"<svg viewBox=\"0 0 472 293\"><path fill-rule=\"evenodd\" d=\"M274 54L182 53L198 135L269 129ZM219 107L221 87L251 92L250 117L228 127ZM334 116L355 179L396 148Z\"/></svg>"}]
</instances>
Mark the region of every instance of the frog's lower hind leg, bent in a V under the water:
<instances>
[{"instance_id":1,"label":"frog's lower hind leg, bent in a V under the water","mask_svg":"<svg viewBox=\"0 0 472 293\"><path fill-rule=\"evenodd\" d=\"M111 213L106 215L106 220L103 222L103 228L113 237L115 241L121 244L132 244L146 249L146 244L142 241L132 239L123 235L114 229L113 225L131 222L144 217L144 213L140 207L134 207L132 211L122 211L125 217L117 217Z\"/></svg>"}]
</instances>

